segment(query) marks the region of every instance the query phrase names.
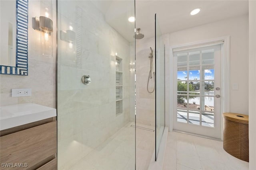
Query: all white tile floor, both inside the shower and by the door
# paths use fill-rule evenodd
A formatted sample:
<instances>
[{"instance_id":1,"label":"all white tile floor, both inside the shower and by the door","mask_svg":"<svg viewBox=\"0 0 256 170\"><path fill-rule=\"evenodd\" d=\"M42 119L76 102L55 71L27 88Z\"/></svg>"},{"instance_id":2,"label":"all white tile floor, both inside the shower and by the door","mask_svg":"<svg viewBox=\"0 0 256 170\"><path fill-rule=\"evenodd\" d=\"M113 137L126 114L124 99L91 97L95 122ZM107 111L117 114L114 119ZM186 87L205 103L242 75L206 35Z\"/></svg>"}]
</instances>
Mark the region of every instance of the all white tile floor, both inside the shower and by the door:
<instances>
[{"instance_id":1,"label":"all white tile floor, both inside the shower and by the door","mask_svg":"<svg viewBox=\"0 0 256 170\"><path fill-rule=\"evenodd\" d=\"M69 170L134 170L134 123L128 123L110 139L79 160ZM154 127L139 125L149 129ZM154 152L154 132L136 129L136 170L147 170ZM222 148L222 142L169 132L164 170L248 170Z\"/></svg>"}]
</instances>

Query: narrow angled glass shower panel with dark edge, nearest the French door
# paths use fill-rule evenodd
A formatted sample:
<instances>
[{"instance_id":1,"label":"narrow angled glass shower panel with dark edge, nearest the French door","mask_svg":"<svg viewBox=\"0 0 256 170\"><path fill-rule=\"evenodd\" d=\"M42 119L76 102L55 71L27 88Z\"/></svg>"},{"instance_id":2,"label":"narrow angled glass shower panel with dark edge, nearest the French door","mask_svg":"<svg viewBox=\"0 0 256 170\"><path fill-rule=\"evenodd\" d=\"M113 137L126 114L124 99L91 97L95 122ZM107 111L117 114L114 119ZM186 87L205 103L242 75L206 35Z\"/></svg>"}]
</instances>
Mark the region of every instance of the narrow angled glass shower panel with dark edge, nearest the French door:
<instances>
[{"instance_id":1,"label":"narrow angled glass shower panel with dark edge, nearest the French door","mask_svg":"<svg viewBox=\"0 0 256 170\"><path fill-rule=\"evenodd\" d=\"M157 16L155 14L155 60L156 60L156 155L160 147L165 126L164 105L164 39L160 30Z\"/></svg>"}]
</instances>

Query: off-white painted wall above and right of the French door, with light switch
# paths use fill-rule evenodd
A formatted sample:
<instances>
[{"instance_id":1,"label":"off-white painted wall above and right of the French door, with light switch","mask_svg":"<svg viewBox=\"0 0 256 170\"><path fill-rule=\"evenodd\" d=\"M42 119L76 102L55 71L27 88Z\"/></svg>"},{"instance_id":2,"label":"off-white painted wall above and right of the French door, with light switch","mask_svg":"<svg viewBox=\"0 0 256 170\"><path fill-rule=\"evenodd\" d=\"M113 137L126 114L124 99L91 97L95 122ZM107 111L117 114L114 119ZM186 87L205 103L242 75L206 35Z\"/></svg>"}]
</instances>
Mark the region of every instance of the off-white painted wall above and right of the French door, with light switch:
<instances>
[{"instance_id":1,"label":"off-white painted wall above and right of the French door, with light switch","mask_svg":"<svg viewBox=\"0 0 256 170\"><path fill-rule=\"evenodd\" d=\"M248 15L170 33L170 46L230 35L230 112L248 115ZM239 89L232 90L237 83Z\"/></svg>"}]
</instances>

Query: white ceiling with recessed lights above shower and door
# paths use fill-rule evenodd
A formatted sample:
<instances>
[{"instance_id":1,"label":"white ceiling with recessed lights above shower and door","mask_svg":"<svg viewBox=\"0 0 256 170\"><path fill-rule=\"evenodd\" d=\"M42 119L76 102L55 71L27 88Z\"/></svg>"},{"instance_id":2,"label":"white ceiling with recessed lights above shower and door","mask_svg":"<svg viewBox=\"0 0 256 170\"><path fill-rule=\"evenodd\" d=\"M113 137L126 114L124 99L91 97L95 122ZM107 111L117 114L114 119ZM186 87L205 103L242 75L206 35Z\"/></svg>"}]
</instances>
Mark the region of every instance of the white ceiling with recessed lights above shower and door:
<instances>
[{"instance_id":1,"label":"white ceiling with recessed lights above shower and door","mask_svg":"<svg viewBox=\"0 0 256 170\"><path fill-rule=\"evenodd\" d=\"M134 41L133 0L92 0L105 14L106 22L125 39ZM201 12L190 16L195 8ZM136 0L136 28L145 38L154 36L154 14L162 34L248 14L248 0Z\"/></svg>"}]
</instances>

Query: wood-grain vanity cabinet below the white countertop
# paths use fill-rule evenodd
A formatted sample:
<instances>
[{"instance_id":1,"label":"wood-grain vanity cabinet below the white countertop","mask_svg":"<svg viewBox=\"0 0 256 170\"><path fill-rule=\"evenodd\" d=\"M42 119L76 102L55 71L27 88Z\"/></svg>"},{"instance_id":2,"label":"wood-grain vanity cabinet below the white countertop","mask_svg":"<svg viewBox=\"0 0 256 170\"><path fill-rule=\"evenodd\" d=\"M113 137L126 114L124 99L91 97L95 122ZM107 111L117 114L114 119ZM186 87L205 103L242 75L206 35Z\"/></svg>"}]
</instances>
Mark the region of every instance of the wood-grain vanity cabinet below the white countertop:
<instances>
[{"instance_id":1,"label":"wood-grain vanity cabinet below the white countertop","mask_svg":"<svg viewBox=\"0 0 256 170\"><path fill-rule=\"evenodd\" d=\"M56 152L55 117L0 131L1 170L57 170Z\"/></svg>"}]
</instances>

